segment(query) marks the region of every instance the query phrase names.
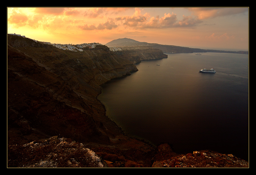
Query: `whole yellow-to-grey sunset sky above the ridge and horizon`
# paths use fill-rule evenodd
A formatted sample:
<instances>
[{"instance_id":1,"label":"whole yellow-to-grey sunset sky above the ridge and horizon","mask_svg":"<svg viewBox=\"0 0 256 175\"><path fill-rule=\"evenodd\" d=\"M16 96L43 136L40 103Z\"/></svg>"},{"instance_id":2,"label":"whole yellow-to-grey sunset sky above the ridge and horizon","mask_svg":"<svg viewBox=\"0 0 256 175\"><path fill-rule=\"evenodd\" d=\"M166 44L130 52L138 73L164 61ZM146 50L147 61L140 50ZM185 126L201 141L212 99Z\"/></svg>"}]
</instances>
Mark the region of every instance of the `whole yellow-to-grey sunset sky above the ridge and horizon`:
<instances>
[{"instance_id":1,"label":"whole yellow-to-grey sunset sky above the ridge and horizon","mask_svg":"<svg viewBox=\"0 0 256 175\"><path fill-rule=\"evenodd\" d=\"M249 50L248 7L7 7L7 33L55 44L118 38L200 49Z\"/></svg>"}]
</instances>

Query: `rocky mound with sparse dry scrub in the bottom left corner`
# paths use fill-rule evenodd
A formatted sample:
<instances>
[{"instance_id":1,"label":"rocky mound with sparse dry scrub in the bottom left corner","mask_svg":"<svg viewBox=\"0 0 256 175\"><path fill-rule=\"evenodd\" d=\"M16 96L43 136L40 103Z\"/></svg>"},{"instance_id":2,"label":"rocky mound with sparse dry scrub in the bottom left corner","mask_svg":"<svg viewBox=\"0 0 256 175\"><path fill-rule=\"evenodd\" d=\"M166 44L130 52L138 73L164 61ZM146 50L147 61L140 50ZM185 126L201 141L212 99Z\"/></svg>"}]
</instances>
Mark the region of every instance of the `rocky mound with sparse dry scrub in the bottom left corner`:
<instances>
[{"instance_id":1,"label":"rocky mound with sparse dry scrub in the bottom left corner","mask_svg":"<svg viewBox=\"0 0 256 175\"><path fill-rule=\"evenodd\" d=\"M100 167L88 149L80 143L54 142L30 143L8 146L8 167Z\"/></svg>"}]
</instances>

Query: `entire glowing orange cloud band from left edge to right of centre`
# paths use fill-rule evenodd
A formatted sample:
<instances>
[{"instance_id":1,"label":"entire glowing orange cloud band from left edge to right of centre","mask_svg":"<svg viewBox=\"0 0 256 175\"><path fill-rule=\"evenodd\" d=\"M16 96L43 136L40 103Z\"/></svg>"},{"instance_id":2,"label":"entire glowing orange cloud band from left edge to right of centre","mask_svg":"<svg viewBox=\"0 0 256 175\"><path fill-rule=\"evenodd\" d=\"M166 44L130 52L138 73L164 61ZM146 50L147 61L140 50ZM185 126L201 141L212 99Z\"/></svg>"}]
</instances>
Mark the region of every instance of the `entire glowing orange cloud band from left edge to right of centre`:
<instances>
[{"instance_id":1,"label":"entire glowing orange cloud band from left edge to right of centre","mask_svg":"<svg viewBox=\"0 0 256 175\"><path fill-rule=\"evenodd\" d=\"M134 9L132 15L121 15L122 12L131 9ZM183 19L178 21L174 13L165 13L162 17L159 15L151 17L149 13L142 14L143 10L140 8L16 8L15 10L8 17L8 24L32 28L41 26L43 29L52 27L53 30L58 28L60 23L63 27L77 26L82 30L112 30L117 27L133 29L187 27L201 22L189 16L183 16ZM200 11L199 9L191 10ZM80 14L82 16L79 16ZM116 17L117 14L120 16ZM115 15L115 17L107 18L106 15Z\"/></svg>"}]
</instances>

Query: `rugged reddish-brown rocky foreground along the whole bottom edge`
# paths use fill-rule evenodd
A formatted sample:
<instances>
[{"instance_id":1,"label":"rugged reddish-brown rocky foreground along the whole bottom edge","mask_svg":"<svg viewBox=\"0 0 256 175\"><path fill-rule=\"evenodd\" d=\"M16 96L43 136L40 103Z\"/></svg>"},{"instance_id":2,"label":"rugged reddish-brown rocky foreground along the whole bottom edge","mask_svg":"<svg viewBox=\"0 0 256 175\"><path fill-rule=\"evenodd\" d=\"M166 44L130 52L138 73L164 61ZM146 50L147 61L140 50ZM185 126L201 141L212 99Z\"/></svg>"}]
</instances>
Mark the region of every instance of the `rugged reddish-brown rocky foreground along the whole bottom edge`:
<instances>
[{"instance_id":1,"label":"rugged reddish-brown rocky foreground along the whole bottom edge","mask_svg":"<svg viewBox=\"0 0 256 175\"><path fill-rule=\"evenodd\" d=\"M130 150L136 154L137 150ZM209 150L194 151L186 155L175 154L167 143L159 145L153 152L151 163L129 160L124 155L111 152L94 152L83 143L72 139L50 137L24 145L8 146L9 167L30 168L247 168L249 164L232 154L220 154Z\"/></svg>"}]
</instances>

